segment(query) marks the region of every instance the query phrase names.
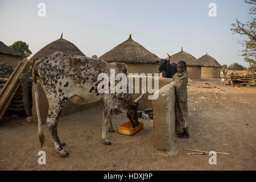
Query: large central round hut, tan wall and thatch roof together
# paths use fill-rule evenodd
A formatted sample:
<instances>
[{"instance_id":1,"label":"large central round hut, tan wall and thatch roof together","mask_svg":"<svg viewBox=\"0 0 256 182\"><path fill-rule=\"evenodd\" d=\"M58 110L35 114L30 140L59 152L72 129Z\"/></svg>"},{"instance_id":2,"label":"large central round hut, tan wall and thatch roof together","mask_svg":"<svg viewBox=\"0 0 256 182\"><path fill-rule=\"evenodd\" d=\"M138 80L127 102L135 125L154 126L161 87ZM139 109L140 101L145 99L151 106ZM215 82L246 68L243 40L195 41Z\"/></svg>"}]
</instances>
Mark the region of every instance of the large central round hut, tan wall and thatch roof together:
<instances>
[{"instance_id":1,"label":"large central round hut, tan wall and thatch roof together","mask_svg":"<svg viewBox=\"0 0 256 182\"><path fill-rule=\"evenodd\" d=\"M109 63L125 63L127 73L158 73L160 58L141 44L129 39L106 52L98 59ZM154 75L152 75L154 76Z\"/></svg>"}]
</instances>

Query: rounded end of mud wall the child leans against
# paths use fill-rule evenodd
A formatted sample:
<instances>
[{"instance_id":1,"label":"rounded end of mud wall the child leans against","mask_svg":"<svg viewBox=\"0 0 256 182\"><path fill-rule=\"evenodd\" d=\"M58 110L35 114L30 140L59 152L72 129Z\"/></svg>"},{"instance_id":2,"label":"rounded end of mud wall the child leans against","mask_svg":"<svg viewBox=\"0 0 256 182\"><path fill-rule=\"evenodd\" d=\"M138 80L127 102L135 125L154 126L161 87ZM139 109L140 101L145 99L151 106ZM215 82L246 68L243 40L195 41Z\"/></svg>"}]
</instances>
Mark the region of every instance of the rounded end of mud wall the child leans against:
<instances>
[{"instance_id":1,"label":"rounded end of mud wall the child leans against","mask_svg":"<svg viewBox=\"0 0 256 182\"><path fill-rule=\"evenodd\" d=\"M158 90L157 100L152 100L154 139L159 150L174 150L175 139L175 88L174 82Z\"/></svg>"}]
</instances>

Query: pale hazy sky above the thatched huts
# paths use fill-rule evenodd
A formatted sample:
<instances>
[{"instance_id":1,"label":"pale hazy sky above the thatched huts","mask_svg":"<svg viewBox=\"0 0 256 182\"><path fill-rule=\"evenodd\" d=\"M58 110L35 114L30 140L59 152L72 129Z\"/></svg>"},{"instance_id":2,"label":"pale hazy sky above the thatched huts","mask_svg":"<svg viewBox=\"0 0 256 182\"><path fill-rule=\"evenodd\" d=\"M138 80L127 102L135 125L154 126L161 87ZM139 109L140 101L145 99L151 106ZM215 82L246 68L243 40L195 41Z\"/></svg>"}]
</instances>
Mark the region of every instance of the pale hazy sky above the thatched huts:
<instances>
[{"instance_id":1,"label":"pale hazy sky above the thatched huts","mask_svg":"<svg viewBox=\"0 0 256 182\"><path fill-rule=\"evenodd\" d=\"M46 16L38 16L38 4L45 3ZM217 17L210 17L210 3L217 5ZM63 38L86 56L101 56L129 35L148 51L166 58L180 51L197 59L208 51L221 65L237 62L248 66L239 54L240 35L231 24L250 19L250 6L242 0L168 1L11 1L0 0L0 41L7 46L22 40L32 53Z\"/></svg>"}]
</instances>

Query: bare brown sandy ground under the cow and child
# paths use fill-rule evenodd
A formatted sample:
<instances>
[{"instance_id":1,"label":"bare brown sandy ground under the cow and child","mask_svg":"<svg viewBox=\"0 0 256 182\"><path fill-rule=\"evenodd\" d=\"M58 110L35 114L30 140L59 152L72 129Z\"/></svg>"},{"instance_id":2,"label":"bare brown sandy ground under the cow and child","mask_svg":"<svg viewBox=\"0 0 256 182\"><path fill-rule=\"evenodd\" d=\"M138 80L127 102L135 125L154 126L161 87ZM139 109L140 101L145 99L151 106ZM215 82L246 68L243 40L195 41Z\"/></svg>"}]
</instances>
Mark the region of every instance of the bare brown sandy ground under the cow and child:
<instances>
[{"instance_id":1,"label":"bare brown sandy ground under the cow and child","mask_svg":"<svg viewBox=\"0 0 256 182\"><path fill-rule=\"evenodd\" d=\"M205 84L208 83L208 84ZM0 122L0 170L255 170L256 169L256 87L239 89L219 80L189 83L190 139L175 140L176 154L167 154L152 145L149 119L141 120L143 130L133 136L119 134L127 121L113 118L112 142L101 142L102 105L62 117L58 134L66 143L69 158L55 152L47 125L43 125L46 147L40 148L38 127L26 119ZM228 152L217 155L210 165L209 155L187 155L188 148ZM46 152L46 165L38 164L38 152Z\"/></svg>"}]
</instances>

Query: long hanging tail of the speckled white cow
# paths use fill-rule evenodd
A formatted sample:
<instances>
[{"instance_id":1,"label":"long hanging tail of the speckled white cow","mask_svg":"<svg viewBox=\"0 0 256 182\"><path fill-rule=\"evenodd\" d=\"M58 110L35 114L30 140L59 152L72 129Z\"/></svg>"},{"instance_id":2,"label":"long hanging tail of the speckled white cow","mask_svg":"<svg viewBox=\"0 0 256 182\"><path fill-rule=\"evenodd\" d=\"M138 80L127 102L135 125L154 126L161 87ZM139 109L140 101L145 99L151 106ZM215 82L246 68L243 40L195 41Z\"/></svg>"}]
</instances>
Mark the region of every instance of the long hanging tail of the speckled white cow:
<instances>
[{"instance_id":1,"label":"long hanging tail of the speckled white cow","mask_svg":"<svg viewBox=\"0 0 256 182\"><path fill-rule=\"evenodd\" d=\"M39 75L38 72L36 70L36 64L33 68L33 81L34 81L34 89L35 89L35 104L36 104L36 114L38 115L38 137L39 137L39 141L41 143L41 147L44 146L44 133L42 130L42 121L41 121L41 117L40 117L40 111L39 111L39 94L38 94L38 89L39 89L39 84L40 84L40 80L39 80Z\"/></svg>"}]
</instances>

